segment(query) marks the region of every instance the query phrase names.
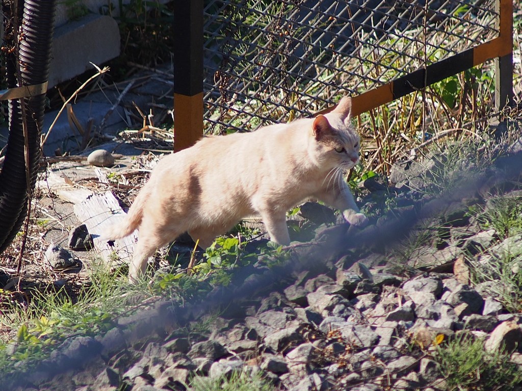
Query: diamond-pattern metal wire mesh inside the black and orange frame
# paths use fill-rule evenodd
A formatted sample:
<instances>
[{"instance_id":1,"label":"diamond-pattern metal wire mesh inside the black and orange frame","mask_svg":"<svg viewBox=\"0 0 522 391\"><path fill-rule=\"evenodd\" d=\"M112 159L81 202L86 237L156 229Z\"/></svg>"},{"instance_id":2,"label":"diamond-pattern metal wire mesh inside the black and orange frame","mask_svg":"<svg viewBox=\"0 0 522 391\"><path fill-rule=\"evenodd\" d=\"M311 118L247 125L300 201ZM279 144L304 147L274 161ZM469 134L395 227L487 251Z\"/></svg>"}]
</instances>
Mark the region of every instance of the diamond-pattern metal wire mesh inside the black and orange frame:
<instances>
[{"instance_id":1,"label":"diamond-pattern metal wire mesh inside the black and orange frame","mask_svg":"<svg viewBox=\"0 0 522 391\"><path fill-rule=\"evenodd\" d=\"M208 0L205 131L309 116L498 35L493 0Z\"/></svg>"}]
</instances>

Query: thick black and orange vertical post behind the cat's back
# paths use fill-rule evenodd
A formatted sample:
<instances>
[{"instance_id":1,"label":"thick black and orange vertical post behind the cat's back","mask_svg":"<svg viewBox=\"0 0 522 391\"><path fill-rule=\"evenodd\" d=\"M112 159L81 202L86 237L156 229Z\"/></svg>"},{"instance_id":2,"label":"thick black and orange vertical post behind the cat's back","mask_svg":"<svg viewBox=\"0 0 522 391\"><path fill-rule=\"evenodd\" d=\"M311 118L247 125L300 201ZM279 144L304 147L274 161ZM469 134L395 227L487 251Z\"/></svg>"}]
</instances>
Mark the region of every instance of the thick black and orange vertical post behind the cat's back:
<instances>
[{"instance_id":1,"label":"thick black and orange vertical post behind the cat's back","mask_svg":"<svg viewBox=\"0 0 522 391\"><path fill-rule=\"evenodd\" d=\"M174 151L203 136L203 0L174 0Z\"/></svg>"}]
</instances>

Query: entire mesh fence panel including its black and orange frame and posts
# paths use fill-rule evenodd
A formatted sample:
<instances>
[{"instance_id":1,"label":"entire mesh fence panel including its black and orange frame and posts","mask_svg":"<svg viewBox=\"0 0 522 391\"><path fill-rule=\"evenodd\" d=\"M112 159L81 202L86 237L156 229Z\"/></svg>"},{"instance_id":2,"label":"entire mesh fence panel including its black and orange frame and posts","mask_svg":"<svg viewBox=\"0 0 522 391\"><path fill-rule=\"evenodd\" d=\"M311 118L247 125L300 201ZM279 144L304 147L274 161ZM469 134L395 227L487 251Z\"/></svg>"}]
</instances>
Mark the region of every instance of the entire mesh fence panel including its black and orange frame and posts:
<instances>
[{"instance_id":1,"label":"entire mesh fence panel including its black and orange frame and posts","mask_svg":"<svg viewBox=\"0 0 522 391\"><path fill-rule=\"evenodd\" d=\"M175 1L175 150L203 128L254 130L328 112L341 94L359 115L490 59L496 108L513 100L512 0ZM373 57L354 54L365 47ZM322 69L337 88L306 92L327 85Z\"/></svg>"}]
</instances>

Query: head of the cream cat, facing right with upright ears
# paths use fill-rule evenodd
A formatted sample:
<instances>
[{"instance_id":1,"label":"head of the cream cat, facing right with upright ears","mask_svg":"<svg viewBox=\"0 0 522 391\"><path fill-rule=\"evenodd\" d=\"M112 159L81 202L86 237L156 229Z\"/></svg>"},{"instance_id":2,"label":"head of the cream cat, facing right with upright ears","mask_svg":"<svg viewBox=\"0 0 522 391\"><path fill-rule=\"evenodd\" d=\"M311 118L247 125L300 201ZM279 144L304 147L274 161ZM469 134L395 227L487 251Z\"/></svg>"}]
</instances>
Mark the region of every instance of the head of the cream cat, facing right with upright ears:
<instances>
[{"instance_id":1,"label":"head of the cream cat, facing right with upright ears","mask_svg":"<svg viewBox=\"0 0 522 391\"><path fill-rule=\"evenodd\" d=\"M324 168L348 170L359 163L361 139L351 124L352 100L345 96L334 111L312 124L317 162Z\"/></svg>"}]
</instances>

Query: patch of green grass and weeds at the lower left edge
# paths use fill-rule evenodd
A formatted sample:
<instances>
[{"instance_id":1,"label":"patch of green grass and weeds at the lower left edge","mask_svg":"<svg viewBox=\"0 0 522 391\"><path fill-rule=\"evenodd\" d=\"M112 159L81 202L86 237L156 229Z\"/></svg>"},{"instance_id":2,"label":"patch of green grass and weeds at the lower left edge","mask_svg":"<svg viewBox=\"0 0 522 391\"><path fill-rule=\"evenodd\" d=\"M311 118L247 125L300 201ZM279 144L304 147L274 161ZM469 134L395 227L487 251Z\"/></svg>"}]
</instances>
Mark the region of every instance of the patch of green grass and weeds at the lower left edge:
<instances>
[{"instance_id":1,"label":"patch of green grass and weeds at the lower left edge","mask_svg":"<svg viewBox=\"0 0 522 391\"><path fill-rule=\"evenodd\" d=\"M30 367L66 337L103 334L117 316L151 296L146 284L131 286L126 275L110 272L102 262L93 262L88 278L74 295L54 285L26 289L26 300L2 292L8 299L1 302L0 324L13 333L2 336L0 351L10 354L0 355L1 373L12 371L14 362Z\"/></svg>"}]
</instances>

